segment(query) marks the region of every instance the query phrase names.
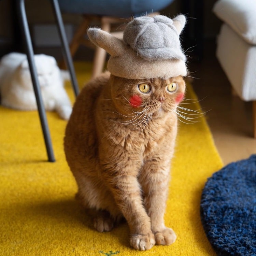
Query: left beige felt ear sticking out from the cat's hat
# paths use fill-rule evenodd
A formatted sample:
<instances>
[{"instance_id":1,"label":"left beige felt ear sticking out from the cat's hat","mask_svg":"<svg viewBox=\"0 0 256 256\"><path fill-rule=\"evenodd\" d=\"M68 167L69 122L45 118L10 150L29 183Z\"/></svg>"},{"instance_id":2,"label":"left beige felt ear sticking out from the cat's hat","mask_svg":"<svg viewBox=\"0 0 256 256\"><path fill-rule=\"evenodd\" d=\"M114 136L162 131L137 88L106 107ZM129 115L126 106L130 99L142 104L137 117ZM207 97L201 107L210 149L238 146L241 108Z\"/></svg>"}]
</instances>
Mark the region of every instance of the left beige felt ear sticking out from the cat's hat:
<instances>
[{"instance_id":1,"label":"left beige felt ear sticking out from the cat's hat","mask_svg":"<svg viewBox=\"0 0 256 256\"><path fill-rule=\"evenodd\" d=\"M103 48L111 56L120 56L125 52L125 43L110 33L98 28L89 28L87 34L91 42Z\"/></svg>"}]
</instances>

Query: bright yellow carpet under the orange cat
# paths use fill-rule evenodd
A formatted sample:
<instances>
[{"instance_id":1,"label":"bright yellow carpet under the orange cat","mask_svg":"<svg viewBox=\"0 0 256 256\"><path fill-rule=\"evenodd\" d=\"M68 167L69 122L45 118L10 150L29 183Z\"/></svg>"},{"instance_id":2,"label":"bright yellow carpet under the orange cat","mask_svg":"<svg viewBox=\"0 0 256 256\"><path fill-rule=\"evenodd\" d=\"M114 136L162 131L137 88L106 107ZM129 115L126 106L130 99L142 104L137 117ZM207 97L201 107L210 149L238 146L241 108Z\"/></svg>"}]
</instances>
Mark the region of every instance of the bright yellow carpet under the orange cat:
<instances>
[{"instance_id":1,"label":"bright yellow carpet under the orange cat","mask_svg":"<svg viewBox=\"0 0 256 256\"><path fill-rule=\"evenodd\" d=\"M80 86L89 65L76 65ZM67 90L74 99L70 85ZM186 98L196 95L188 89ZM199 109L198 103L186 107ZM223 164L204 118L181 123L172 163L166 225L177 240L146 252L129 247L126 223L108 233L91 228L74 200L76 183L63 153L66 121L47 113L56 157L47 162L38 113L0 106L0 255L216 255L200 221L200 197L207 177Z\"/></svg>"}]
</instances>

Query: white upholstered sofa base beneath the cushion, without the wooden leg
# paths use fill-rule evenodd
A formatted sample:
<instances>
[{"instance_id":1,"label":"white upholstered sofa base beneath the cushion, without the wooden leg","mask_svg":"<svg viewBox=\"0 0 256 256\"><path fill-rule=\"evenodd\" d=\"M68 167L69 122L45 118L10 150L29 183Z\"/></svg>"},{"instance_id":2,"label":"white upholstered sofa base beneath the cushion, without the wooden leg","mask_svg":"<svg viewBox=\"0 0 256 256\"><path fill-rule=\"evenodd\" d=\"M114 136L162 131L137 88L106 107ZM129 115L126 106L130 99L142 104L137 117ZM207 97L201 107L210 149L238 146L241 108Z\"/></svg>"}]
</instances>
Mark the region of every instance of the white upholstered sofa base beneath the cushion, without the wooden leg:
<instances>
[{"instance_id":1,"label":"white upholstered sofa base beneath the cushion, without the wooden leg","mask_svg":"<svg viewBox=\"0 0 256 256\"><path fill-rule=\"evenodd\" d=\"M225 23L217 38L216 56L241 99L256 100L256 46L245 42Z\"/></svg>"}]
</instances>

